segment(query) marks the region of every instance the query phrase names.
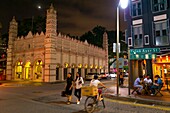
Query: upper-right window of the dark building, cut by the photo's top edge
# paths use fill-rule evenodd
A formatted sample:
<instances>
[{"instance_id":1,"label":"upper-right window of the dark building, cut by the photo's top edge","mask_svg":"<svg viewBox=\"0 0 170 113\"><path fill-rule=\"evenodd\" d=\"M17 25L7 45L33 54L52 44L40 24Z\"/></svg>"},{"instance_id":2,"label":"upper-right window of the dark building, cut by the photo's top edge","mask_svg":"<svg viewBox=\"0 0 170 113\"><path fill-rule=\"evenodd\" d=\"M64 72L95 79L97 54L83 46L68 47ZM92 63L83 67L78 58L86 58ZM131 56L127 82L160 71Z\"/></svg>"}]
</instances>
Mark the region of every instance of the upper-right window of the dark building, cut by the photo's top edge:
<instances>
[{"instance_id":1,"label":"upper-right window of the dark building, cut by the photo's top edge","mask_svg":"<svg viewBox=\"0 0 170 113\"><path fill-rule=\"evenodd\" d=\"M167 9L167 0L152 0L153 12L163 11Z\"/></svg>"}]
</instances>

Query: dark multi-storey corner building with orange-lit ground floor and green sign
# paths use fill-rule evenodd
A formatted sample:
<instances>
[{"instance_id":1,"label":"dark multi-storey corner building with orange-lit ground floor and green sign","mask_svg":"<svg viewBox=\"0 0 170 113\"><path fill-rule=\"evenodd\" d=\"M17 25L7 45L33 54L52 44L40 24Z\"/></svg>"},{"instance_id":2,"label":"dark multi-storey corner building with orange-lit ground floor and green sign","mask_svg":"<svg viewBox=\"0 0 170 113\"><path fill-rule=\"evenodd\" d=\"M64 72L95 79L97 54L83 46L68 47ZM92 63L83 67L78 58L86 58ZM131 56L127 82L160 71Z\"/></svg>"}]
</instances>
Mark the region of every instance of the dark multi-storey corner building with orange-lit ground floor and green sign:
<instances>
[{"instance_id":1,"label":"dark multi-storey corner building with orange-lit ground floor and green sign","mask_svg":"<svg viewBox=\"0 0 170 113\"><path fill-rule=\"evenodd\" d=\"M170 77L170 0L130 0L125 11L131 79Z\"/></svg>"}]
</instances>

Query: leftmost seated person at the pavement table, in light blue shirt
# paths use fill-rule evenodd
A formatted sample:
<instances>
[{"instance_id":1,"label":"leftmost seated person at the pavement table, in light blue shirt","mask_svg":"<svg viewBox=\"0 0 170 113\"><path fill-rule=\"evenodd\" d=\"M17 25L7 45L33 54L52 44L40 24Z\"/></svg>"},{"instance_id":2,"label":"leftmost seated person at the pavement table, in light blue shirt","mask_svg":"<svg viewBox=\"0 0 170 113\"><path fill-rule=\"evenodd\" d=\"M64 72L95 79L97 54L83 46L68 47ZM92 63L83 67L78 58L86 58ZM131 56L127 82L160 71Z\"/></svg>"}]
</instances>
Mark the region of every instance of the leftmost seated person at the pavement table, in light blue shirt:
<instances>
[{"instance_id":1,"label":"leftmost seated person at the pavement table, in light blue shirt","mask_svg":"<svg viewBox=\"0 0 170 113\"><path fill-rule=\"evenodd\" d=\"M138 78L136 78L133 85L135 88L138 88L136 91L138 95L141 95L141 92L143 90L143 86L141 85L142 82L143 82L143 76L139 76Z\"/></svg>"}]
</instances>

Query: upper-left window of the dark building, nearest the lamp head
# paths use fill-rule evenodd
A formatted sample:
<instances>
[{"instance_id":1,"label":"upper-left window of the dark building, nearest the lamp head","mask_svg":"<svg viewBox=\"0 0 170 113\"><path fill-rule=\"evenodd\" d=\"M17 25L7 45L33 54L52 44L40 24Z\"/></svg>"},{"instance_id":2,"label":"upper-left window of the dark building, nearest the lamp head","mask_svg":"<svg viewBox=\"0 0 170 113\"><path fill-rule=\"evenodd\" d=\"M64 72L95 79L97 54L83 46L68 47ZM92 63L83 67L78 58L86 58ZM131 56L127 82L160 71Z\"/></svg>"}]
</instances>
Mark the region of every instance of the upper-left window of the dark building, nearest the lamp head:
<instances>
[{"instance_id":1,"label":"upper-left window of the dark building, nearest the lamp head","mask_svg":"<svg viewBox=\"0 0 170 113\"><path fill-rule=\"evenodd\" d=\"M132 16L140 16L142 15L142 4L141 0L137 0L132 2Z\"/></svg>"}]
</instances>

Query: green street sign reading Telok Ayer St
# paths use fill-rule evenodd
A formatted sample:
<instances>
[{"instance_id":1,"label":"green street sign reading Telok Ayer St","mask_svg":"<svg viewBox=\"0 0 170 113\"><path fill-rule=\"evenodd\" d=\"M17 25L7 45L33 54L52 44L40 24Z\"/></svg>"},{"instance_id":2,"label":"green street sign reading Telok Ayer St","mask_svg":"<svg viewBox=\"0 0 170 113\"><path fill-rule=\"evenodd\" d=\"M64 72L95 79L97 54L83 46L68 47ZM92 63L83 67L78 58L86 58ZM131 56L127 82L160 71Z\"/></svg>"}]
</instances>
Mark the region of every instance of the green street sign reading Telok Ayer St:
<instances>
[{"instance_id":1,"label":"green street sign reading Telok Ayer St","mask_svg":"<svg viewBox=\"0 0 170 113\"><path fill-rule=\"evenodd\" d=\"M160 48L130 49L130 54L149 54L158 52L160 52Z\"/></svg>"}]
</instances>

